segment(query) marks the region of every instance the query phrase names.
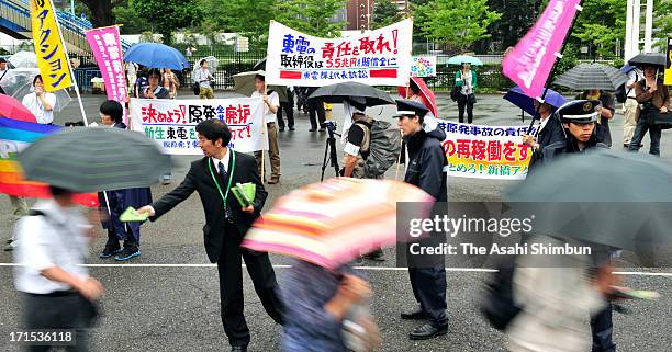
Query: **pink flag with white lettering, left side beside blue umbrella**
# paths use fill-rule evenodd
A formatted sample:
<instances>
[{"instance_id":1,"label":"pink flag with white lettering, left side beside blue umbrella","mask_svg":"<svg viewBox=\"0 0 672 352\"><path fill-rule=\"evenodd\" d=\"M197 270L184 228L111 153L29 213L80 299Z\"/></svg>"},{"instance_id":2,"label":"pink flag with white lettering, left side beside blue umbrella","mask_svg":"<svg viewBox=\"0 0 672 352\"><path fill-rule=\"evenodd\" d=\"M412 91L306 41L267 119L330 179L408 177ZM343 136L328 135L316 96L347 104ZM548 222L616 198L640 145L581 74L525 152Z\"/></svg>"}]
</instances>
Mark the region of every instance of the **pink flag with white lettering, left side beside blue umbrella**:
<instances>
[{"instance_id":1,"label":"pink flag with white lettering, left side beside blue umbrella","mask_svg":"<svg viewBox=\"0 0 672 352\"><path fill-rule=\"evenodd\" d=\"M87 41L105 82L108 99L115 100L123 106L127 89L119 26L88 31ZM126 121L126 114L124 113L124 122Z\"/></svg>"}]
</instances>

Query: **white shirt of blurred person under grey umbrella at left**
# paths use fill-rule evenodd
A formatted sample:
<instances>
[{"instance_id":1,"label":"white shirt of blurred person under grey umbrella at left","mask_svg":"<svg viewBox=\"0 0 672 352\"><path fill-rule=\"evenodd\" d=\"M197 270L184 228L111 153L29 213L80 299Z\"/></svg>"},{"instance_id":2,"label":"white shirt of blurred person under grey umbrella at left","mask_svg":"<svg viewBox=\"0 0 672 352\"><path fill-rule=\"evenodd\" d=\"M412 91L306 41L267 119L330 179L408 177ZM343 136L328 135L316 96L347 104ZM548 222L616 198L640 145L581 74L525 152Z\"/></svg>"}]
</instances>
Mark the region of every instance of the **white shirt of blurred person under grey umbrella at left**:
<instances>
[{"instance_id":1,"label":"white shirt of blurred person under grey umbrella at left","mask_svg":"<svg viewBox=\"0 0 672 352\"><path fill-rule=\"evenodd\" d=\"M87 268L78 266L88 253L87 230L91 228L79 208L61 207L56 201L40 201L35 209L46 216L24 216L16 225L14 249L14 285L20 292L49 294L69 291L67 284L49 281L41 271L58 266L69 274L85 280L89 276Z\"/></svg>"}]
</instances>

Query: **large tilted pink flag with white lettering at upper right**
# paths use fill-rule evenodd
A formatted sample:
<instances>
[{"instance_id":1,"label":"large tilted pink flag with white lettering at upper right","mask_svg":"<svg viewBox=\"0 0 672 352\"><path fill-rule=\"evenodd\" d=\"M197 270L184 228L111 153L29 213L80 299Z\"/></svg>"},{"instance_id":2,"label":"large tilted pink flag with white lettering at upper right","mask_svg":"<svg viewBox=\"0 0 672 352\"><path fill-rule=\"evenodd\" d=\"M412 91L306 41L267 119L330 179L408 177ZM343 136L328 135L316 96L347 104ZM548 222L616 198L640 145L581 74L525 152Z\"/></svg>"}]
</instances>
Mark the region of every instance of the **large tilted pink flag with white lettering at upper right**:
<instances>
[{"instance_id":1,"label":"large tilted pink flag with white lettering at upper right","mask_svg":"<svg viewBox=\"0 0 672 352\"><path fill-rule=\"evenodd\" d=\"M535 26L504 57L502 71L528 96L541 96L581 0L551 0Z\"/></svg>"}]
</instances>

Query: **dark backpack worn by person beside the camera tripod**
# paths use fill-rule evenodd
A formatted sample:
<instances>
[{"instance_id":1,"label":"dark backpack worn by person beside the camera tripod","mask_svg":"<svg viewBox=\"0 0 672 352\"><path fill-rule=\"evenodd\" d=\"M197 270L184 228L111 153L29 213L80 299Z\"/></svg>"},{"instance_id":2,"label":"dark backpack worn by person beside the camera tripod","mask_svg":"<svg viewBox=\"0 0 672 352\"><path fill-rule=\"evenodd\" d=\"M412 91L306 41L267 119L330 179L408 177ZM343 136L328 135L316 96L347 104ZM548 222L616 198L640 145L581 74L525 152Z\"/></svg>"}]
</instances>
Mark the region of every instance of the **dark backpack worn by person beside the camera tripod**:
<instances>
[{"instance_id":1,"label":"dark backpack worn by person beside the camera tripod","mask_svg":"<svg viewBox=\"0 0 672 352\"><path fill-rule=\"evenodd\" d=\"M385 121L373 121L370 130L362 123L355 122L354 125L363 129L361 150L369 151L365 160L365 177L376 179L396 162L401 154L401 133L396 126Z\"/></svg>"}]
</instances>

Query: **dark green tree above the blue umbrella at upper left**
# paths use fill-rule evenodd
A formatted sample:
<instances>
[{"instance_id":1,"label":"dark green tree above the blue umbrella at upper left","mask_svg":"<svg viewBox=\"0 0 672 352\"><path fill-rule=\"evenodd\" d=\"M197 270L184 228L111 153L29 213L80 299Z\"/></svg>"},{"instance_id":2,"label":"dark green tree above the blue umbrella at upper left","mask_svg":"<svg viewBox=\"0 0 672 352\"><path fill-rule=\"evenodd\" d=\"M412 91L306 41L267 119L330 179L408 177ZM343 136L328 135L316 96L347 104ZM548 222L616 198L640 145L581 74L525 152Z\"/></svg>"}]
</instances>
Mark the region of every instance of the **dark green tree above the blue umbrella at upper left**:
<instances>
[{"instance_id":1,"label":"dark green tree above the blue umbrella at upper left","mask_svg":"<svg viewBox=\"0 0 672 352\"><path fill-rule=\"evenodd\" d=\"M134 0L133 9L154 25L165 44L172 43L172 32L194 25L201 19L198 0Z\"/></svg>"}]
</instances>

